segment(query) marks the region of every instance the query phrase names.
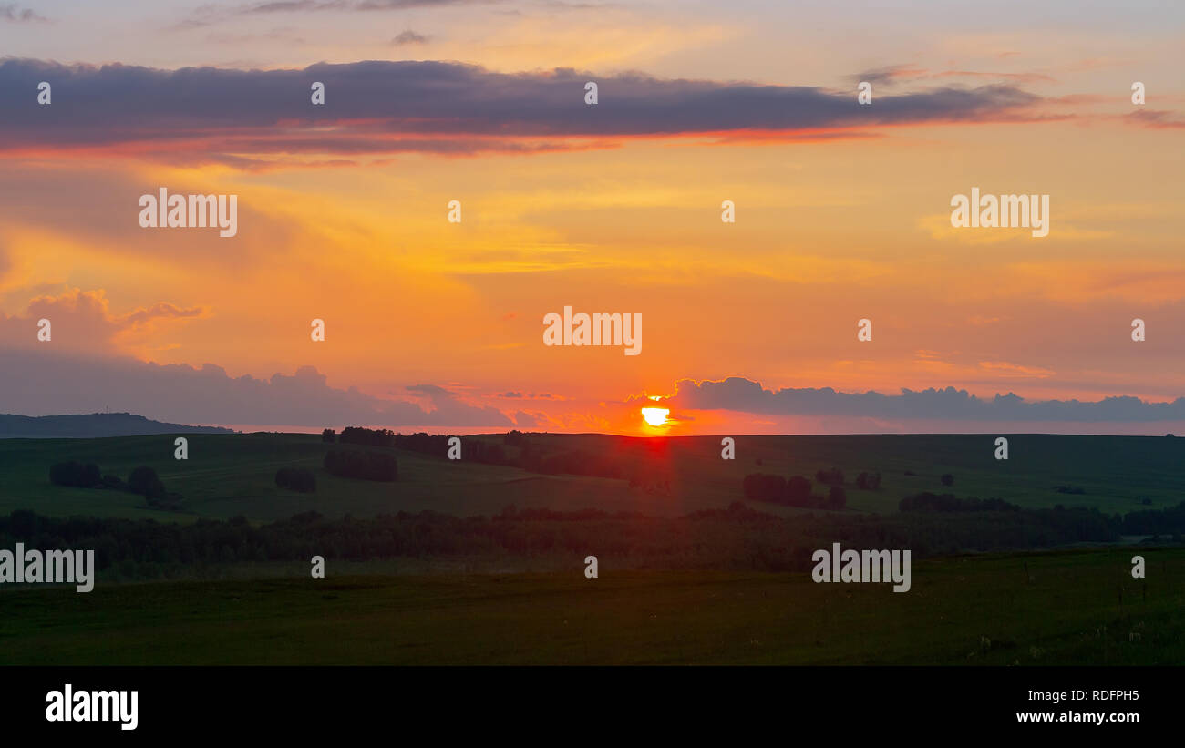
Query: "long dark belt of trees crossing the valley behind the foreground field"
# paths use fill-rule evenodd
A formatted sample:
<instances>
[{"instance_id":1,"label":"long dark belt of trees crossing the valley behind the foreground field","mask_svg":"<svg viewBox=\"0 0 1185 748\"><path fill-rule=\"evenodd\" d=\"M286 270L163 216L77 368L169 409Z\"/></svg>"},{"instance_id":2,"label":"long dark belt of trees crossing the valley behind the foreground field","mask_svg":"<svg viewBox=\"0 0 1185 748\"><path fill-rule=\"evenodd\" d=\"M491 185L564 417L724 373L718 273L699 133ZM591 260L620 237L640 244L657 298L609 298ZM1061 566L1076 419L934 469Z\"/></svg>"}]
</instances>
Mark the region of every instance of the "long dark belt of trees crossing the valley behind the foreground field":
<instances>
[{"instance_id":1,"label":"long dark belt of trees crossing the valley behind the foreground field","mask_svg":"<svg viewBox=\"0 0 1185 748\"><path fill-rule=\"evenodd\" d=\"M1133 516L1134 515L1134 516ZM811 554L833 542L851 548L909 548L915 557L971 550L1040 549L1075 542L1110 542L1138 527L1155 527L1177 541L1185 533L1185 502L1128 517L1096 509L1016 511L910 511L803 514L790 518L742 502L683 517L608 514L596 509L542 509L456 517L435 511L366 520L328 520L305 512L262 525L243 517L180 524L154 520L57 518L30 510L0 516L0 547L88 548L101 569L120 565L146 575L174 565L327 559L542 557L587 554L647 568L808 570ZM1145 523L1152 523L1145 525Z\"/></svg>"}]
</instances>

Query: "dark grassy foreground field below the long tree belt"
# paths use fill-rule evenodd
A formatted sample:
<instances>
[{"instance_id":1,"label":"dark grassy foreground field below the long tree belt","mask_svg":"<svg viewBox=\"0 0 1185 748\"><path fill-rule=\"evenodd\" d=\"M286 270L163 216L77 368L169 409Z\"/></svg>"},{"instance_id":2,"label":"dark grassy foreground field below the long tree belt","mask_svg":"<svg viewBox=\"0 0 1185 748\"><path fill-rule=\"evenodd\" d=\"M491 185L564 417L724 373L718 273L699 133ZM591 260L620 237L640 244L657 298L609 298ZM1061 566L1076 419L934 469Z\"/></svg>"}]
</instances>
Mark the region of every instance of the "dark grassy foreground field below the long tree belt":
<instances>
[{"instance_id":1,"label":"dark grassy foreground field below the long tree belt","mask_svg":"<svg viewBox=\"0 0 1185 748\"><path fill-rule=\"evenodd\" d=\"M0 594L4 664L1181 664L1185 550L809 574L614 572L155 582Z\"/></svg>"}]
</instances>

